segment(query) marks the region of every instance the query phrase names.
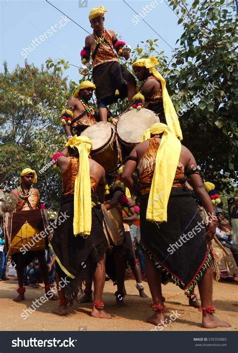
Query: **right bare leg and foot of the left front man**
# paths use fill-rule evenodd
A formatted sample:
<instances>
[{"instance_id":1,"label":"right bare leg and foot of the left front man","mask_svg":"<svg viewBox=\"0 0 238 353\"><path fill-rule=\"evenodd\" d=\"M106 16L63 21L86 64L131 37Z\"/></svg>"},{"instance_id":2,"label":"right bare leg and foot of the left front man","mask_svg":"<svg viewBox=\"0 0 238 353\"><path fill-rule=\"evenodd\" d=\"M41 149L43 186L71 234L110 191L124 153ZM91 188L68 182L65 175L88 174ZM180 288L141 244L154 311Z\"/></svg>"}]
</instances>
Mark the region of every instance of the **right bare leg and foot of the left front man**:
<instances>
[{"instance_id":1,"label":"right bare leg and foot of the left front man","mask_svg":"<svg viewBox=\"0 0 238 353\"><path fill-rule=\"evenodd\" d=\"M102 292L105 283L105 258L106 254L103 255L103 258L100 262L97 263L97 268L94 273L94 303L101 302ZM104 310L97 309L95 305L92 307L91 316L97 317L100 319L111 319L111 315L105 312Z\"/></svg>"}]
</instances>

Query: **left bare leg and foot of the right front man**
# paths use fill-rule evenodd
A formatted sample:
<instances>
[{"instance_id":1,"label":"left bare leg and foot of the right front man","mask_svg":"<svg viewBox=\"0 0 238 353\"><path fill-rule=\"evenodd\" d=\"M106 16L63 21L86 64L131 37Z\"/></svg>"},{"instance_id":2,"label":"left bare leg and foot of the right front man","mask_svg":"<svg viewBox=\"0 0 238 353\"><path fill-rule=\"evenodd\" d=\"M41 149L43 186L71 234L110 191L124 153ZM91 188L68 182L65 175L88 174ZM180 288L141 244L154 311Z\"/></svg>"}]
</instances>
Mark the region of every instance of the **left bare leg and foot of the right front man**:
<instances>
[{"instance_id":1,"label":"left bare leg and foot of the right front man","mask_svg":"<svg viewBox=\"0 0 238 353\"><path fill-rule=\"evenodd\" d=\"M150 287L153 303L156 305L163 305L162 290L161 290L161 273L156 268L154 262L150 259L148 254L145 254L145 269L146 277ZM148 317L148 322L158 325L164 322L164 313L162 310L156 311L152 316Z\"/></svg>"}]
</instances>

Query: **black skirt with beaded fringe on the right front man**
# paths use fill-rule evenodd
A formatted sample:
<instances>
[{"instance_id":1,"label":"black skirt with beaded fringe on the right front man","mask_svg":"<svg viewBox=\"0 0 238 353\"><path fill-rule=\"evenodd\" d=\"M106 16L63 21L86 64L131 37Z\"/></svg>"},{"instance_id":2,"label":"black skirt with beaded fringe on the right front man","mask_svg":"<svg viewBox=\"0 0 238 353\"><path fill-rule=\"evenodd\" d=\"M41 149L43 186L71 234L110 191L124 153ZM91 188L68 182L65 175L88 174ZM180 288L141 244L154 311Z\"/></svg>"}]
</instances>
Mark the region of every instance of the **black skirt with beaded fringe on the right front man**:
<instances>
[{"instance_id":1,"label":"black skirt with beaded fringe on the right front man","mask_svg":"<svg viewBox=\"0 0 238 353\"><path fill-rule=\"evenodd\" d=\"M186 188L172 188L167 208L167 222L146 220L149 194L140 207L141 243L145 252L161 269L162 283L169 281L191 292L210 267L204 222L192 193Z\"/></svg>"}]
</instances>

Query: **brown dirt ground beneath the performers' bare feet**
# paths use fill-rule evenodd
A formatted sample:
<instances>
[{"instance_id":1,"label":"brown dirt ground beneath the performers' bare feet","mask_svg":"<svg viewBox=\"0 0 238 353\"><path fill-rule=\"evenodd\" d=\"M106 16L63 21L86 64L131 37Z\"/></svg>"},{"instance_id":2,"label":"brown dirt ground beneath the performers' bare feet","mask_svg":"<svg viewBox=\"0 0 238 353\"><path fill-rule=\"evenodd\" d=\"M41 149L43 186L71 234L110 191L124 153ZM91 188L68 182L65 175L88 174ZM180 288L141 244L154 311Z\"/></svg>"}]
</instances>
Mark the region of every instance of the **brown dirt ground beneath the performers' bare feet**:
<instances>
[{"instance_id":1,"label":"brown dirt ground beneath the performers' bare feet","mask_svg":"<svg viewBox=\"0 0 238 353\"><path fill-rule=\"evenodd\" d=\"M135 288L136 282L128 280L126 283L127 296L125 302L126 308L117 308L115 306L115 287L111 281L105 283L103 302L105 310L111 313L112 319L95 319L89 316L91 304L75 304L69 308L69 315L60 317L51 311L58 302L42 304L35 312L29 315L25 320L21 314L23 310L31 307L32 301L44 295L43 288L33 289L27 287L26 300L21 303L13 302L16 297L17 282L0 282L0 330L2 331L150 331L154 325L146 322L146 318L152 315L151 297L143 299L138 296ZM146 282L145 292L150 294ZM216 315L231 323L229 330L238 329L238 282L214 282L213 300L216 307ZM201 313L197 309L188 306L188 299L178 287L173 284L163 286L163 295L166 298L166 317L174 312L180 316L164 327L164 331L202 331ZM196 288L196 292L198 290ZM212 329L212 331L227 330L227 328ZM158 331L159 332L159 331Z\"/></svg>"}]
</instances>

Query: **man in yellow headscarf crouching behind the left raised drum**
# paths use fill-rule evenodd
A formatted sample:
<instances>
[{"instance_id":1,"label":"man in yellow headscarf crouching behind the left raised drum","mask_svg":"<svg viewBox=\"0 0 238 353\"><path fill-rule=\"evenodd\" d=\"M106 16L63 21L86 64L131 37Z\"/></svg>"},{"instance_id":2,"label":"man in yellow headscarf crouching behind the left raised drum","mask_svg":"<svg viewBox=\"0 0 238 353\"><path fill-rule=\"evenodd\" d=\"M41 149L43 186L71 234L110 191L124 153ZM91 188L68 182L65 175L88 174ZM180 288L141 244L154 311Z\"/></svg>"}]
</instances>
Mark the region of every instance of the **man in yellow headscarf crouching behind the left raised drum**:
<instances>
[{"instance_id":1,"label":"man in yellow headscarf crouching behind the left raised drum","mask_svg":"<svg viewBox=\"0 0 238 353\"><path fill-rule=\"evenodd\" d=\"M79 84L77 91L70 98L61 112L61 125L69 140L73 133L80 135L87 127L96 124L95 111L88 105L96 86L90 81Z\"/></svg>"}]
</instances>

